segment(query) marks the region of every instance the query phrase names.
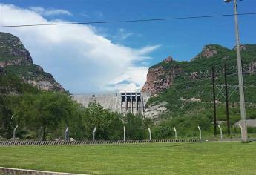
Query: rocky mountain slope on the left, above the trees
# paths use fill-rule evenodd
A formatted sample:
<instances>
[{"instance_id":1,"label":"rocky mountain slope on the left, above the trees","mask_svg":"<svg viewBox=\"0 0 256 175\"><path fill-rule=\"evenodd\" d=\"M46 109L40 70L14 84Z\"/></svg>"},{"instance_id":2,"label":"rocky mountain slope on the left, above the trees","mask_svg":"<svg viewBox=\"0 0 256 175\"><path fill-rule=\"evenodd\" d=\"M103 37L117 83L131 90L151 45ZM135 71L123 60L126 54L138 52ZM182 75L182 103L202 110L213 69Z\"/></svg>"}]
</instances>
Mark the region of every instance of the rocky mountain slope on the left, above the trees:
<instances>
[{"instance_id":1,"label":"rocky mountain slope on the left, above the trees","mask_svg":"<svg viewBox=\"0 0 256 175\"><path fill-rule=\"evenodd\" d=\"M64 90L50 73L33 64L29 51L10 33L0 33L0 71L16 75L41 90Z\"/></svg>"}]
</instances>

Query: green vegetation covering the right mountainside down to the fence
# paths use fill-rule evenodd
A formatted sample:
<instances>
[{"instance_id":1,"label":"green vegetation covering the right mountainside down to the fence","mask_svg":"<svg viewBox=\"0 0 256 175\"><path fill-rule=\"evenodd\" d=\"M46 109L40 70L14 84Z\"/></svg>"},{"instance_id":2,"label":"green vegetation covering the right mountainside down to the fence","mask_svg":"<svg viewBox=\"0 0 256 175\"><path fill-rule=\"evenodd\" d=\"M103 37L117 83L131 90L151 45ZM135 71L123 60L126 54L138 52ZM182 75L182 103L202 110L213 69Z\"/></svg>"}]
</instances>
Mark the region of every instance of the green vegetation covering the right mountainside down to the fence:
<instances>
[{"instance_id":1,"label":"green vegetation covering the right mountainside down to the fence","mask_svg":"<svg viewBox=\"0 0 256 175\"><path fill-rule=\"evenodd\" d=\"M243 81L245 85L246 115L247 119L256 119L256 70L250 64L256 62L256 45L246 44L242 51ZM160 117L155 133L162 137L173 136L173 126L178 128L180 136L195 136L197 125L203 128L203 133L213 135L213 93L211 81L211 67L216 71L215 91L217 96L217 120L223 121L222 127L226 133L226 107L225 107L225 82L224 64L227 65L227 82L229 90L229 116L232 133L239 133L234 128L234 123L240 120L240 106L238 95L237 59L234 50L229 50L220 45L209 45L217 54L211 58L199 53L191 62L160 62L153 67L163 66L165 70L172 67L181 67L182 73L175 75L174 84L157 96L151 97L148 106L167 102L165 107L168 112ZM197 78L191 79L191 73L197 72ZM193 100L194 99L194 100ZM197 101L199 100L199 101ZM249 132L256 133L255 128Z\"/></svg>"}]
</instances>

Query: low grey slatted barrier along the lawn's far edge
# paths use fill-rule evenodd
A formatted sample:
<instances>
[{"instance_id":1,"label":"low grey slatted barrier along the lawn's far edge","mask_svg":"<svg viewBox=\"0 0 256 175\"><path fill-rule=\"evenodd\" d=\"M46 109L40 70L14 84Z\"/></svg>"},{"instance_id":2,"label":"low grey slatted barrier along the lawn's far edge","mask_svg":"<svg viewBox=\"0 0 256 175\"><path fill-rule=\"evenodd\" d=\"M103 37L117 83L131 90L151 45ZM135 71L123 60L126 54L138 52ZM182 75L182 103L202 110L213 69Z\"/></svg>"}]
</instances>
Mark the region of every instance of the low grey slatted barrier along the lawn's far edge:
<instances>
[{"instance_id":1,"label":"low grey slatted barrier along the lawn's far edge","mask_svg":"<svg viewBox=\"0 0 256 175\"><path fill-rule=\"evenodd\" d=\"M175 143L200 142L198 139L156 139L156 140L96 140L96 141L0 141L1 145L100 145L100 144L137 144L137 143Z\"/></svg>"}]
</instances>

